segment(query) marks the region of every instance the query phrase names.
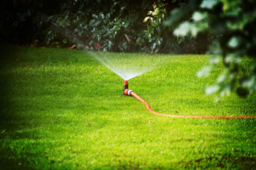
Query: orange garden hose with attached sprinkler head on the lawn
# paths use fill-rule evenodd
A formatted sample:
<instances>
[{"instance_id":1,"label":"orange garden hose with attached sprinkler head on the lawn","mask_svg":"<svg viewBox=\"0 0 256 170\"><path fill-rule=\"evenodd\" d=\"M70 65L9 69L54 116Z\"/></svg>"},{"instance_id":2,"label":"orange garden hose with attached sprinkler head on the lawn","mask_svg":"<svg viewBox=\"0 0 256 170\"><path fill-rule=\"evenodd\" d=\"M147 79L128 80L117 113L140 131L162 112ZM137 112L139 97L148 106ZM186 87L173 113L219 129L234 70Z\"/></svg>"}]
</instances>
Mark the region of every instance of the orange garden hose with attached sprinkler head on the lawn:
<instances>
[{"instance_id":1,"label":"orange garden hose with attached sprinkler head on the lawn","mask_svg":"<svg viewBox=\"0 0 256 170\"><path fill-rule=\"evenodd\" d=\"M158 113L156 111L151 110L148 102L146 102L144 99L139 97L131 89L128 88L127 80L125 80L124 82L123 94L135 97L144 105L146 105L146 108L149 112L157 116L169 116L169 117L192 118L192 119L255 119L256 118L256 116L181 116L181 115L166 115L166 114Z\"/></svg>"}]
</instances>

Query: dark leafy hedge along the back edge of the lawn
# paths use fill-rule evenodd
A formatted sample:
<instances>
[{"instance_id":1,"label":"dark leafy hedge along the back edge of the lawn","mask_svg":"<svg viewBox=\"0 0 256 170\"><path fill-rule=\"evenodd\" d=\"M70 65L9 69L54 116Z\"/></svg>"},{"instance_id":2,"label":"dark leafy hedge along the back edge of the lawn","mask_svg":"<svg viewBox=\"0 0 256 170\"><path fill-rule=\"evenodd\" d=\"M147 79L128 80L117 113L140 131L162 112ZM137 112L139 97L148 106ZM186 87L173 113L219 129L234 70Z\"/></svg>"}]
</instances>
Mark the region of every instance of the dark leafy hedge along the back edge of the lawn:
<instances>
[{"instance_id":1,"label":"dark leafy hedge along the back edge of the lawn","mask_svg":"<svg viewBox=\"0 0 256 170\"><path fill-rule=\"evenodd\" d=\"M1 5L2 42L87 50L204 53L209 38L175 37L163 20L188 1L136 0L4 0ZM163 15L149 11L164 10ZM145 17L152 20L143 22ZM152 22L151 22L152 21ZM155 24L155 22L156 24ZM203 45L202 45L203 44Z\"/></svg>"}]
</instances>

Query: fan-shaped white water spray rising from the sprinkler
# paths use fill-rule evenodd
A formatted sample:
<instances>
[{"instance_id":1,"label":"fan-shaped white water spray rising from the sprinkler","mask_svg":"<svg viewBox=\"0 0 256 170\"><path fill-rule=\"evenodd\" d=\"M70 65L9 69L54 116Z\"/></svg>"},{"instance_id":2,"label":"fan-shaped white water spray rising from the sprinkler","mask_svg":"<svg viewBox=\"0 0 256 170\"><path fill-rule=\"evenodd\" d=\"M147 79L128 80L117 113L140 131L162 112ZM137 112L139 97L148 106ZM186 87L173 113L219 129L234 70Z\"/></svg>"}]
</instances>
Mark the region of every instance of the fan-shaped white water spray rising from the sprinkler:
<instances>
[{"instance_id":1,"label":"fan-shaped white water spray rising from the sprinkler","mask_svg":"<svg viewBox=\"0 0 256 170\"><path fill-rule=\"evenodd\" d=\"M73 31L67 28L61 28L57 26L58 31L67 39L76 42L77 44L85 44L86 40L82 37L78 37ZM148 56L146 54L125 54L125 53L109 53L102 52L101 48L96 48L94 51L90 51L88 48L83 47L84 51L90 54L91 57L106 65L108 69L116 73L124 80L142 75L145 72L152 71L155 67L162 62L160 59L154 56Z\"/></svg>"}]
</instances>

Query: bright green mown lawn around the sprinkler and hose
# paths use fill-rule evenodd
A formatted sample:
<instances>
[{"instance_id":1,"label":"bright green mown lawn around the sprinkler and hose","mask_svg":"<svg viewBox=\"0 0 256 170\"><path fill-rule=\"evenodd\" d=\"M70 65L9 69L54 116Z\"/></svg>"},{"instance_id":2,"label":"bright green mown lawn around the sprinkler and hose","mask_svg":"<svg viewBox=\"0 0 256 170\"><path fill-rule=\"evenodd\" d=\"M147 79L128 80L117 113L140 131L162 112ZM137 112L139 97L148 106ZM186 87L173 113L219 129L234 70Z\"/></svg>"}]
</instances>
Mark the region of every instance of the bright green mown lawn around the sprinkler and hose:
<instances>
[{"instance_id":1,"label":"bright green mown lawn around the sprinkler and hose","mask_svg":"<svg viewBox=\"0 0 256 170\"><path fill-rule=\"evenodd\" d=\"M9 46L1 53L0 169L256 166L254 119L154 116L137 99L123 96L123 80L83 51ZM232 94L218 103L204 94L223 69L195 77L206 55L156 57L168 59L129 81L154 111L256 116L255 94Z\"/></svg>"}]
</instances>

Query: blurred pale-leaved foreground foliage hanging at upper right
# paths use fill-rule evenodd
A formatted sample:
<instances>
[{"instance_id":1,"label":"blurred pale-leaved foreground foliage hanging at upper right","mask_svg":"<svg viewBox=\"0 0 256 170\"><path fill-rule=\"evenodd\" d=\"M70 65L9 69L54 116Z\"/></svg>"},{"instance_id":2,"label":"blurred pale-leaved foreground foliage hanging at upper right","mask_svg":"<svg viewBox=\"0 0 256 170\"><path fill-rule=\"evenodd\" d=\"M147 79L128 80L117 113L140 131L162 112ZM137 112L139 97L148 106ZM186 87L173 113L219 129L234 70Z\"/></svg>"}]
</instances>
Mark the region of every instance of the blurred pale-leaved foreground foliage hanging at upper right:
<instances>
[{"instance_id":1,"label":"blurred pale-leaved foreground foliage hanging at upper right","mask_svg":"<svg viewBox=\"0 0 256 170\"><path fill-rule=\"evenodd\" d=\"M187 21L183 21L186 18ZM254 1L193 0L185 8L172 11L166 26L179 25L177 37L212 37L209 65L198 72L207 76L223 62L225 69L217 82L206 89L207 94L229 95L236 91L241 97L256 90L256 3ZM248 59L247 59L248 58ZM247 60L247 62L244 62ZM247 63L247 64L245 64Z\"/></svg>"}]
</instances>

